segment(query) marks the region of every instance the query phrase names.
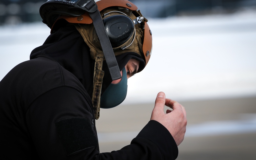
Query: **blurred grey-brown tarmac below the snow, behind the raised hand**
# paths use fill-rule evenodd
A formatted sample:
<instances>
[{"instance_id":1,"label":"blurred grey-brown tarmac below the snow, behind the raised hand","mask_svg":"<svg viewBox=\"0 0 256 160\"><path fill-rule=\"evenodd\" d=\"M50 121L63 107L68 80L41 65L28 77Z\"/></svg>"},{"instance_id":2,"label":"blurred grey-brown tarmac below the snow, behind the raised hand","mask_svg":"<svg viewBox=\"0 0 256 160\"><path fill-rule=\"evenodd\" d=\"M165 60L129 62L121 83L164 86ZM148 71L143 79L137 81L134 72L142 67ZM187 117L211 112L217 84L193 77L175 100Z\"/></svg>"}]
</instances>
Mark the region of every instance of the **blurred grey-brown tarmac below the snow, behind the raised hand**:
<instances>
[{"instance_id":1,"label":"blurred grey-brown tarmac below the snow, behind the raised hand","mask_svg":"<svg viewBox=\"0 0 256 160\"><path fill-rule=\"evenodd\" d=\"M188 124L184 141L178 146L177 160L256 159L256 97L179 103L186 108ZM154 104L134 104L101 109L96 121L100 151L111 152L129 145L150 120L153 107ZM195 127L202 124L209 125L201 128L204 133ZM235 129L234 124L238 124Z\"/></svg>"}]
</instances>

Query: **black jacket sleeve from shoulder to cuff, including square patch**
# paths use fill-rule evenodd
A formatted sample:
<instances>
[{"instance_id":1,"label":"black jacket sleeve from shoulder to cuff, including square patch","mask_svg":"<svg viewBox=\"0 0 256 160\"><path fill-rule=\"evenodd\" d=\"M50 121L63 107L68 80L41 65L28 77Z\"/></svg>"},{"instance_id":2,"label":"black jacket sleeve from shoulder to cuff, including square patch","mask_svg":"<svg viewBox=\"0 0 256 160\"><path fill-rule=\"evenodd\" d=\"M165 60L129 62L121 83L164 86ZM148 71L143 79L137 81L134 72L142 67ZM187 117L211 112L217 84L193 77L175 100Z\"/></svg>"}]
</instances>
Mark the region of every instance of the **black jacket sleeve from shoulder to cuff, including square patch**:
<instances>
[{"instance_id":1,"label":"black jacket sleeve from shoulder to cuff, including square patch","mask_svg":"<svg viewBox=\"0 0 256 160\"><path fill-rule=\"evenodd\" d=\"M156 121L150 121L130 145L100 153L93 111L71 87L58 87L38 97L26 112L26 123L40 159L170 160L178 155L173 137Z\"/></svg>"}]
</instances>

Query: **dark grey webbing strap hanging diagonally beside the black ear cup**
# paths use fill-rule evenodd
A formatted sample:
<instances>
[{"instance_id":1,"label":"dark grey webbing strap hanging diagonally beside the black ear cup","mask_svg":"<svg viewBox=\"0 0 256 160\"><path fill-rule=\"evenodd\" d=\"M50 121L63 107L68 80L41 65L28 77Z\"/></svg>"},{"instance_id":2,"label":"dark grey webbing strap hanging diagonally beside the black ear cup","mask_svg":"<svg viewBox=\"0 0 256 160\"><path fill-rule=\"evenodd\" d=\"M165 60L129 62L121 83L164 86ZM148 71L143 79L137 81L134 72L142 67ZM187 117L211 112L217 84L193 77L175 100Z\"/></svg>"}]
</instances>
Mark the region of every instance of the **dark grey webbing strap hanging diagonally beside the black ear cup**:
<instances>
[{"instance_id":1,"label":"dark grey webbing strap hanging diagonally beside the black ear cup","mask_svg":"<svg viewBox=\"0 0 256 160\"><path fill-rule=\"evenodd\" d=\"M104 53L104 57L108 65L112 80L117 80L122 78L119 67L118 67L118 63L115 58L113 48L109 41L109 37L106 33L99 10L97 9L95 12L89 13L89 15L92 18L93 26L100 40L102 51Z\"/></svg>"}]
</instances>

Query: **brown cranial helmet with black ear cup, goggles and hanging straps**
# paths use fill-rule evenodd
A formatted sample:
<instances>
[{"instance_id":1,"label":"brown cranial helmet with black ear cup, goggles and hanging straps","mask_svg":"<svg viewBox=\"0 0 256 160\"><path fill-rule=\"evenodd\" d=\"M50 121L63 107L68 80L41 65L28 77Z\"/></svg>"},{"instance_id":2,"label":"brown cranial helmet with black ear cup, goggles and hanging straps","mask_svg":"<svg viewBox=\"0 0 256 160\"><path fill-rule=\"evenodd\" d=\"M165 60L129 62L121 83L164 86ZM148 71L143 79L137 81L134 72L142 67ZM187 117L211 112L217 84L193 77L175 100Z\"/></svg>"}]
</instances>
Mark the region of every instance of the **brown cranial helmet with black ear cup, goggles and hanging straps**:
<instances>
[{"instance_id":1,"label":"brown cranial helmet with black ear cup, goggles and hanging straps","mask_svg":"<svg viewBox=\"0 0 256 160\"><path fill-rule=\"evenodd\" d=\"M152 33L147 19L127 0L48 0L40 7L40 15L51 33L63 25L74 25L90 47L95 59L92 102L99 118L100 92L106 61L112 80L120 79L115 56L132 52L147 65L152 51Z\"/></svg>"}]
</instances>

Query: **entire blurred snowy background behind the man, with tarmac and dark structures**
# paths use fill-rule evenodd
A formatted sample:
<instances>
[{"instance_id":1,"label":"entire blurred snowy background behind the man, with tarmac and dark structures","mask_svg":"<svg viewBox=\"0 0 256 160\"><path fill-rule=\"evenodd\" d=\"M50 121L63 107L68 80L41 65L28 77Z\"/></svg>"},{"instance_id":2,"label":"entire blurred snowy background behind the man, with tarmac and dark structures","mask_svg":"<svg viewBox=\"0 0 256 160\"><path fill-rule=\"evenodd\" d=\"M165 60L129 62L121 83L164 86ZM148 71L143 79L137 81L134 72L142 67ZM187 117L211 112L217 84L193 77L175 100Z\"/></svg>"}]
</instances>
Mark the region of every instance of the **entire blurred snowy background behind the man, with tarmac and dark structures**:
<instances>
[{"instance_id":1,"label":"entire blurred snowy background behind the man, with tarmac and dark structures","mask_svg":"<svg viewBox=\"0 0 256 160\"><path fill-rule=\"evenodd\" d=\"M49 36L39 15L44 2L0 1L0 80ZM129 79L125 101L101 109L101 152L130 144L163 91L187 111L177 159L255 160L256 0L131 2L149 20L153 52Z\"/></svg>"}]
</instances>

